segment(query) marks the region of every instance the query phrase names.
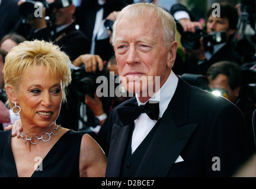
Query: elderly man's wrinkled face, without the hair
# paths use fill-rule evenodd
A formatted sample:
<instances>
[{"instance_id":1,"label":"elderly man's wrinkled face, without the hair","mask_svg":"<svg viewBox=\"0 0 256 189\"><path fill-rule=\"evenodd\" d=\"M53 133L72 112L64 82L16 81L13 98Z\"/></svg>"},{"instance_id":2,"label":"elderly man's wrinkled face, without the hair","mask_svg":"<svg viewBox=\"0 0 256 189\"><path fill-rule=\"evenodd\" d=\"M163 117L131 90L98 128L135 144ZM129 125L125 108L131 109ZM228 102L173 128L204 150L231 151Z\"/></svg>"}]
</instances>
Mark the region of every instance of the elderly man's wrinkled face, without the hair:
<instances>
[{"instance_id":1,"label":"elderly man's wrinkled face, without the hair","mask_svg":"<svg viewBox=\"0 0 256 189\"><path fill-rule=\"evenodd\" d=\"M164 34L159 28L162 28L161 24L155 17L123 17L117 25L113 42L119 76L124 77L131 93L135 90L142 92L149 84L155 86L157 77L162 86L169 76L169 57L172 55L170 48L164 45ZM147 83L143 85L144 79Z\"/></svg>"}]
</instances>

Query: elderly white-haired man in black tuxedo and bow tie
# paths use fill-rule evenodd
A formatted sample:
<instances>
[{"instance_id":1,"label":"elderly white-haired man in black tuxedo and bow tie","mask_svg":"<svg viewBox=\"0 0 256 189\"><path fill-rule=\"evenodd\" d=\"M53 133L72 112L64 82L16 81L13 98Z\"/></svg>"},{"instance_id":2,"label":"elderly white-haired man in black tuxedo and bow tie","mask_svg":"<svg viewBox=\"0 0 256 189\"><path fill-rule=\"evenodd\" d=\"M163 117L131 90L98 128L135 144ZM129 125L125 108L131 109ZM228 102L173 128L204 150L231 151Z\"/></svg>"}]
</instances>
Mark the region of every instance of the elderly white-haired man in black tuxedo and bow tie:
<instances>
[{"instance_id":1,"label":"elderly white-haired man in black tuxedo and bow tie","mask_svg":"<svg viewBox=\"0 0 256 189\"><path fill-rule=\"evenodd\" d=\"M111 112L106 177L228 177L252 154L239 109L172 71L171 14L153 4L126 6L113 46L122 83L136 97Z\"/></svg>"}]
</instances>

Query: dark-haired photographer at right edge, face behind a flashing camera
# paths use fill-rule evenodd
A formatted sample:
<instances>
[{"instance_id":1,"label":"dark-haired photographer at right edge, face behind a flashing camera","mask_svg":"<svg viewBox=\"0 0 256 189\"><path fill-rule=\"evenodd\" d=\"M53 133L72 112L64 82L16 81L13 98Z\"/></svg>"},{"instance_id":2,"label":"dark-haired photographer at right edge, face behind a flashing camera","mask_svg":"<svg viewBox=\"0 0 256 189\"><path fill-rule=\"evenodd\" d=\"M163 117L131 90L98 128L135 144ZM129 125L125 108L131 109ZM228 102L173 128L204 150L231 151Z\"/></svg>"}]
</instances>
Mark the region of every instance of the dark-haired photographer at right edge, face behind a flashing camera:
<instances>
[{"instance_id":1,"label":"dark-haired photographer at right edge, face behind a flashing camera","mask_svg":"<svg viewBox=\"0 0 256 189\"><path fill-rule=\"evenodd\" d=\"M256 93L253 92L252 86L242 84L241 67L231 61L220 61L209 67L206 76L211 90L223 90L226 98L239 107L247 123L251 142L254 144L252 113L256 109ZM254 99L248 96L254 96Z\"/></svg>"}]
</instances>

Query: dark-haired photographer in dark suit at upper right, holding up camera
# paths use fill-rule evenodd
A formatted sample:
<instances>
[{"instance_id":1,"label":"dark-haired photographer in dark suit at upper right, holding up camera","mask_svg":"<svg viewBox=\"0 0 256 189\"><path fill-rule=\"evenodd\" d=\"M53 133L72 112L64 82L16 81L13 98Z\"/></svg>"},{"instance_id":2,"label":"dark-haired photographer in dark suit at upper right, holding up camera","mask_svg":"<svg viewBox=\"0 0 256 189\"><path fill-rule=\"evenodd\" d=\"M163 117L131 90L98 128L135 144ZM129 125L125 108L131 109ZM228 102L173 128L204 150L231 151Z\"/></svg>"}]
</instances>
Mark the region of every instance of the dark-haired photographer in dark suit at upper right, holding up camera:
<instances>
[{"instance_id":1,"label":"dark-haired photographer in dark suit at upper right, holding up camera","mask_svg":"<svg viewBox=\"0 0 256 189\"><path fill-rule=\"evenodd\" d=\"M188 9L176 4L172 6L171 13L175 15L178 11L185 11L190 19L179 19L177 23L178 31L181 33L183 51L187 55L187 73L206 74L207 69L217 61L231 60L241 64L241 56L235 51L232 42L238 22L236 9L229 4L220 4L220 17L213 17L212 12L215 8L207 10L206 31L201 30L199 22L193 22L193 17ZM175 16L174 16L175 17ZM187 33L185 31L193 32ZM220 43L214 41L215 35L221 36ZM217 37L216 37L217 38ZM191 41L194 40L194 41ZM185 45L187 44L187 45ZM185 47L187 48L185 48ZM197 46L197 47L196 47Z\"/></svg>"}]
</instances>

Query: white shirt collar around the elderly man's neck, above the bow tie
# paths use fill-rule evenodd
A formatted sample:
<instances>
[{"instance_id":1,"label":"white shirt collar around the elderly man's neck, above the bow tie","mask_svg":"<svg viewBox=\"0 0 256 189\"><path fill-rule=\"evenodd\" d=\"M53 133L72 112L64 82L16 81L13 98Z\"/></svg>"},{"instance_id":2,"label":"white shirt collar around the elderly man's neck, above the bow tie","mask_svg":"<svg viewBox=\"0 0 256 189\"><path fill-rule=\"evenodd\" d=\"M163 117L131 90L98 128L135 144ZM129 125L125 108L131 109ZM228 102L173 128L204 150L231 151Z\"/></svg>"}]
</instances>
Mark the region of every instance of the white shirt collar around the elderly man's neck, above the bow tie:
<instances>
[{"instance_id":1,"label":"white shirt collar around the elderly man's neck, above the bow tie","mask_svg":"<svg viewBox=\"0 0 256 189\"><path fill-rule=\"evenodd\" d=\"M165 110L167 109L167 106L169 105L169 102L172 99L172 96L174 96L174 92L178 85L178 77L175 75L173 71L169 74L168 79L165 81L163 86L158 90L158 92L155 93L154 96L151 97L149 100L155 100L159 101L159 117L162 118L162 115L164 115ZM141 103L139 101L139 97L137 94L135 94L138 105L145 104ZM147 101L148 102L148 101Z\"/></svg>"}]
</instances>

